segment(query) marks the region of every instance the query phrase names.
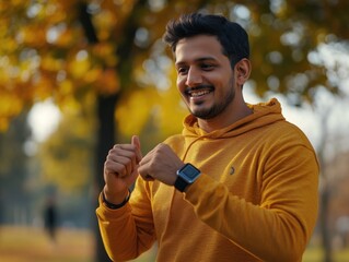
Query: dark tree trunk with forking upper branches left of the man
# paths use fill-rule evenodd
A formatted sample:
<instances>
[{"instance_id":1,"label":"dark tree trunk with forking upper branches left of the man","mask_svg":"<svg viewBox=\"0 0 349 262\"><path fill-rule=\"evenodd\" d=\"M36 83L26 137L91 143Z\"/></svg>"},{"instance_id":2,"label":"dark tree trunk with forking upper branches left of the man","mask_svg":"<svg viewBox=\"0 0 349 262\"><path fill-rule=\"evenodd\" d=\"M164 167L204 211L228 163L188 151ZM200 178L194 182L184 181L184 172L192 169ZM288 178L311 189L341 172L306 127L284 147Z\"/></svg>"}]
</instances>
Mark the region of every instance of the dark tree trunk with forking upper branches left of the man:
<instances>
[{"instance_id":1,"label":"dark tree trunk with forking upper branches left of the man","mask_svg":"<svg viewBox=\"0 0 349 262\"><path fill-rule=\"evenodd\" d=\"M139 26L139 20L142 15L142 11L147 8L147 0L139 0L133 5L132 12L130 12L127 22L125 23L124 27L124 37L116 40L117 51L116 56L123 62L117 64L116 73L119 75L120 79L120 90L125 90L127 86L130 85L131 81L131 73L132 72L132 57L135 56L135 34ZM79 7L79 14L80 14L80 22L83 26L85 37L89 40L90 45L94 45L98 43L98 38L93 26L91 15L88 12L88 7L84 1L81 1ZM108 151L113 147L114 142L116 141L116 127L115 127L115 118L114 112L116 108L116 104L118 98L121 96L121 91L115 95L108 96L98 96L97 100L97 120L98 120L98 133L97 133L97 151L96 151L96 190L101 192L104 187L104 179L103 179L103 166L105 162L105 157ZM97 195L95 198L97 200ZM97 204L95 202L95 204ZM94 215L95 217L95 215ZM98 226L96 223L96 218L94 218L94 229L96 236L96 261L104 262L109 261L106 255L104 246L102 243L102 238L100 235Z\"/></svg>"}]
</instances>

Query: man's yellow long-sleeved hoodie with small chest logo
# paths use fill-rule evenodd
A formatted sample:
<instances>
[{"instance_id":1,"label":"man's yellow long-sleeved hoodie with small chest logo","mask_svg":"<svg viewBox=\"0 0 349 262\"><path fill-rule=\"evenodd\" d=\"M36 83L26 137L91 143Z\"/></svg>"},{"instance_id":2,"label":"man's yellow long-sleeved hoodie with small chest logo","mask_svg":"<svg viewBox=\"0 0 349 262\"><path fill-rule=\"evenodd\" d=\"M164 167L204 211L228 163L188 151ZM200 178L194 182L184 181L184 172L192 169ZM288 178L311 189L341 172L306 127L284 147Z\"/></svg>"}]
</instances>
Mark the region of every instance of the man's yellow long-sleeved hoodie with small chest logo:
<instances>
[{"instance_id":1,"label":"man's yellow long-sleeved hoodie with small chest logo","mask_svg":"<svg viewBox=\"0 0 349 262\"><path fill-rule=\"evenodd\" d=\"M278 100L206 133L188 116L165 141L201 170L186 193L139 178L129 204L97 217L114 261L130 260L156 240L160 262L301 261L317 216L318 165L303 132Z\"/></svg>"}]
</instances>

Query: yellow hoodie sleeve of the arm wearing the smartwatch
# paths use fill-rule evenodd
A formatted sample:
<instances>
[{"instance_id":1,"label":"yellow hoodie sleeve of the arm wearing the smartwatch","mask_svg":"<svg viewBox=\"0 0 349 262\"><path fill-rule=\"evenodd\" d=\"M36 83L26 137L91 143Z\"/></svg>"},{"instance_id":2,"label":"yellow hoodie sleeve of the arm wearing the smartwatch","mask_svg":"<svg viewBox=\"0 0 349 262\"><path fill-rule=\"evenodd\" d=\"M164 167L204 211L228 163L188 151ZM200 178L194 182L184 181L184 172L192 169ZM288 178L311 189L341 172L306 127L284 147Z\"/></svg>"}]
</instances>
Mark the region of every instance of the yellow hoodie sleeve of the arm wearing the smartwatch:
<instances>
[{"instance_id":1,"label":"yellow hoodie sleeve of the arm wearing the smartwatch","mask_svg":"<svg viewBox=\"0 0 349 262\"><path fill-rule=\"evenodd\" d=\"M302 145L280 146L263 169L259 204L236 196L207 174L187 189L185 200L202 222L255 257L301 261L317 216L314 152Z\"/></svg>"}]
</instances>

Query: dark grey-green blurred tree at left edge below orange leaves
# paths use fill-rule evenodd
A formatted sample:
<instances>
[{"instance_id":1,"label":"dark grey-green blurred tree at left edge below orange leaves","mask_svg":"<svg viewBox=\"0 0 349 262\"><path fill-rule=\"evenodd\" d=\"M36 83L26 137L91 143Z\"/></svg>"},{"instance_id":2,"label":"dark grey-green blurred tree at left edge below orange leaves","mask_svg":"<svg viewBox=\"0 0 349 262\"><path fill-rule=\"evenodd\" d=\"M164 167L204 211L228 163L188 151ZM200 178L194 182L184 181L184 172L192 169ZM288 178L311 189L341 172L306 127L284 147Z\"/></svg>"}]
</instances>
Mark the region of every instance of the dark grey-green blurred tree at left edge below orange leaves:
<instances>
[{"instance_id":1,"label":"dark grey-green blurred tree at left edge below orange leaves","mask_svg":"<svg viewBox=\"0 0 349 262\"><path fill-rule=\"evenodd\" d=\"M23 145L30 135L25 111L0 135L0 222L4 224L28 223L31 194L23 182L28 176L28 156Z\"/></svg>"}]
</instances>

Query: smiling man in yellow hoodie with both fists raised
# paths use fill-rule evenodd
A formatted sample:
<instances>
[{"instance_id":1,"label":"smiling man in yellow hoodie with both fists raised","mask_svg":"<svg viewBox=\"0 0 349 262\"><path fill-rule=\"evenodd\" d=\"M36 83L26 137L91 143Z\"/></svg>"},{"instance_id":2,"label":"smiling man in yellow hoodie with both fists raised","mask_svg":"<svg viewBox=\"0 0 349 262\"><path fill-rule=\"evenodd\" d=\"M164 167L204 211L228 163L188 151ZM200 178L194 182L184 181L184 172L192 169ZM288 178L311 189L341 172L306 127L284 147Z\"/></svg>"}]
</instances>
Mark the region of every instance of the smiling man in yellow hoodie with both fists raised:
<instances>
[{"instance_id":1,"label":"smiling man in yellow hoodie with both fists raised","mask_svg":"<svg viewBox=\"0 0 349 262\"><path fill-rule=\"evenodd\" d=\"M170 22L164 40L190 115L144 157L136 135L109 151L96 211L109 257L137 258L156 240L158 261L301 261L318 165L278 100L244 102L247 34L194 13Z\"/></svg>"}]
</instances>

